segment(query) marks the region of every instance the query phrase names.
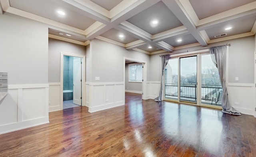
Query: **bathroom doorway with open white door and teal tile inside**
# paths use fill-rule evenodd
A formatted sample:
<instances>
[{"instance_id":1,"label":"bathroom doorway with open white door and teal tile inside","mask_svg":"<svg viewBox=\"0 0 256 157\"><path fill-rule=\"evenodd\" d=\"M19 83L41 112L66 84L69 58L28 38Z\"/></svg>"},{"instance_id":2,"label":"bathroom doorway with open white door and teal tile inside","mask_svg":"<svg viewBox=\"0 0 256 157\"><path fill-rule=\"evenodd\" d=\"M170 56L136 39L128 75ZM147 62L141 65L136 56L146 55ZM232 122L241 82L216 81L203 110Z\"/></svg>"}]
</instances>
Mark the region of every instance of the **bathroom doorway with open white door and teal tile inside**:
<instances>
[{"instance_id":1,"label":"bathroom doorway with open white door and teal tile inside","mask_svg":"<svg viewBox=\"0 0 256 157\"><path fill-rule=\"evenodd\" d=\"M61 53L60 61L61 108L85 105L85 56Z\"/></svg>"}]
</instances>

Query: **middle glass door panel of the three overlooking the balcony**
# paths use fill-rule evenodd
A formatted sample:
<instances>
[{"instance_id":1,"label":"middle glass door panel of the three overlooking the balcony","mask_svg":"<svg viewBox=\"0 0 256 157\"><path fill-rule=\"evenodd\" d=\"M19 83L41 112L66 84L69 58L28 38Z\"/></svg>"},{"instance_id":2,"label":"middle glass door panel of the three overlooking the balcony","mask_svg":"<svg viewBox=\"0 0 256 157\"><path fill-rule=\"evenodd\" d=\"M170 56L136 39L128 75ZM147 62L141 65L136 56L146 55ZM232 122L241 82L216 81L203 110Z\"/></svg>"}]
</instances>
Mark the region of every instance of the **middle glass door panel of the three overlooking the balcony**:
<instances>
[{"instance_id":1,"label":"middle glass door panel of the three overlooking the balcony","mask_svg":"<svg viewBox=\"0 0 256 157\"><path fill-rule=\"evenodd\" d=\"M180 58L180 101L196 103L197 56Z\"/></svg>"}]
</instances>

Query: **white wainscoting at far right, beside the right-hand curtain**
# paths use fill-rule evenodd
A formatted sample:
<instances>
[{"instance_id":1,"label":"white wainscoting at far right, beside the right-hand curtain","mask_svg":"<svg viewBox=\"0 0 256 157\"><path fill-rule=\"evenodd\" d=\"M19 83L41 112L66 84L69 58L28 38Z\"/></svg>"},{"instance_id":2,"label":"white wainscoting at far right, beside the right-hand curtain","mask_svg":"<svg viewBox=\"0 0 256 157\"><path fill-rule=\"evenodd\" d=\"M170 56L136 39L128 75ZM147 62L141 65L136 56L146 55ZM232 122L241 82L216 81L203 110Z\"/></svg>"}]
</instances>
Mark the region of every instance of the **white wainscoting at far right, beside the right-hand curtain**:
<instances>
[{"instance_id":1,"label":"white wainscoting at far right, beside the right-hand curtain","mask_svg":"<svg viewBox=\"0 0 256 157\"><path fill-rule=\"evenodd\" d=\"M241 113L254 115L254 88L253 83L229 83L230 105ZM235 103L239 103L239 105Z\"/></svg>"}]
</instances>

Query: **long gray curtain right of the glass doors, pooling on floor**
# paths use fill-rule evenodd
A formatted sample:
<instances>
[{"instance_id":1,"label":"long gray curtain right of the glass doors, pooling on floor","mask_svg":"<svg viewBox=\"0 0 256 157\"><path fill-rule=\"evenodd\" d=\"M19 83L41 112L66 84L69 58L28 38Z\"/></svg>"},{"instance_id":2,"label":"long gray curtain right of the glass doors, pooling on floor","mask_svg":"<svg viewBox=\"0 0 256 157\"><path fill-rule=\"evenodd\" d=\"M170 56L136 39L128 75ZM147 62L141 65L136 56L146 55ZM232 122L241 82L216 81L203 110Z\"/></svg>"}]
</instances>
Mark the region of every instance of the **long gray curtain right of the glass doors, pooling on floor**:
<instances>
[{"instance_id":1,"label":"long gray curtain right of the glass doors, pooling on floor","mask_svg":"<svg viewBox=\"0 0 256 157\"><path fill-rule=\"evenodd\" d=\"M212 57L212 62L218 68L221 86L222 86L222 98L221 98L221 105L222 105L222 112L234 114L234 115L241 115L236 109L234 109L229 101L228 101L228 91L227 91L227 81L226 81L226 54L227 54L227 46L216 46L210 48L210 53Z\"/></svg>"}]
</instances>

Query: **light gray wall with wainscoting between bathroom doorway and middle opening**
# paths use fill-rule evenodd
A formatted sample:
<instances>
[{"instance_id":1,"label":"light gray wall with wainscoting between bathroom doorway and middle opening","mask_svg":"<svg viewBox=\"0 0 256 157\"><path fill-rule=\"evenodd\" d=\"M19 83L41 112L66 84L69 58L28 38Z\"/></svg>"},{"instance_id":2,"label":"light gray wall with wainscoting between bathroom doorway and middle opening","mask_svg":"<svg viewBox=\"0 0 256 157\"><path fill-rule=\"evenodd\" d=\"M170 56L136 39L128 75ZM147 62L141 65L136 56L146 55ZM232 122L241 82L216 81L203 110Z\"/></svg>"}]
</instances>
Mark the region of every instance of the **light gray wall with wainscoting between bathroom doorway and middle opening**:
<instances>
[{"instance_id":1,"label":"light gray wall with wainscoting between bathroom doorway and middle opening","mask_svg":"<svg viewBox=\"0 0 256 157\"><path fill-rule=\"evenodd\" d=\"M141 60L149 64L150 57L135 50L126 50L102 40L90 41L91 75L89 86L89 112L124 105L124 58ZM147 71L148 78L149 70ZM100 80L96 81L95 77Z\"/></svg>"}]
</instances>

